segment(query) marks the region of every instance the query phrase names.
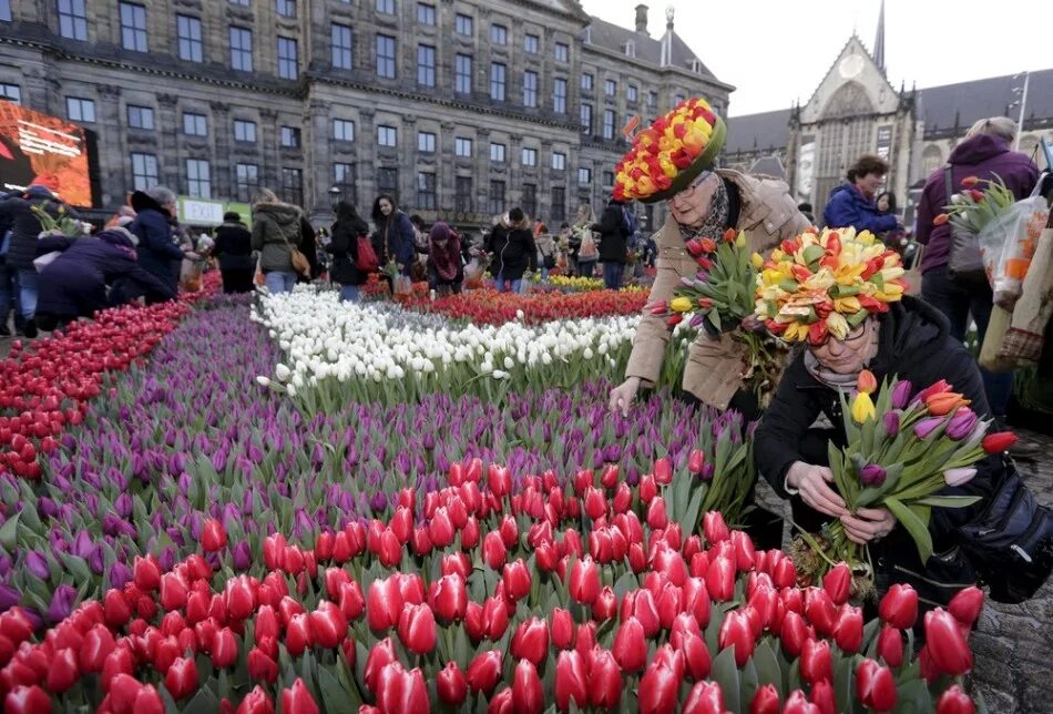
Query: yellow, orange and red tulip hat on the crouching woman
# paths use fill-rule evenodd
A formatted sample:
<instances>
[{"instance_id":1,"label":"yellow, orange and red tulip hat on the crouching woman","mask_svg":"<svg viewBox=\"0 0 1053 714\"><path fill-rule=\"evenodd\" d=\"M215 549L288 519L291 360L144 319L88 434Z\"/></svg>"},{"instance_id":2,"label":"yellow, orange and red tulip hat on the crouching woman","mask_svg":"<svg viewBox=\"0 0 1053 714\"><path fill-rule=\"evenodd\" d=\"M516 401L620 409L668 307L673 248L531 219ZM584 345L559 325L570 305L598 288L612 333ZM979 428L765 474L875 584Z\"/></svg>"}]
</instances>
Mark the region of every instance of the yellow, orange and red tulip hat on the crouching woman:
<instances>
[{"instance_id":1,"label":"yellow, orange and red tulip hat on the crouching woman","mask_svg":"<svg viewBox=\"0 0 1053 714\"><path fill-rule=\"evenodd\" d=\"M783 241L757 275L756 315L786 341L844 339L902 298L903 264L869 231L811 228Z\"/></svg>"}]
</instances>

